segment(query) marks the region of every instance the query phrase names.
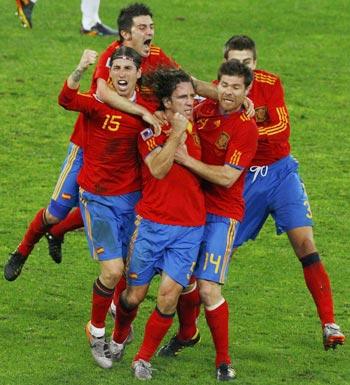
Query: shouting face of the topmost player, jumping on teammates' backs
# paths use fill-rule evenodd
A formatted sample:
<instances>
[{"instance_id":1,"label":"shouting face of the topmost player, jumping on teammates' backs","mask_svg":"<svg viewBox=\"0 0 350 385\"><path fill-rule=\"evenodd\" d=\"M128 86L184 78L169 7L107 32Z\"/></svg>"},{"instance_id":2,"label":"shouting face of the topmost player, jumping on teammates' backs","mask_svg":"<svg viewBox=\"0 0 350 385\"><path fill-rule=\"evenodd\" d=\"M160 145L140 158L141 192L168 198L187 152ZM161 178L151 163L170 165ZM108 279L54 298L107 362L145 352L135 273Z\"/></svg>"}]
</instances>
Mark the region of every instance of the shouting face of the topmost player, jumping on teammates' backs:
<instances>
[{"instance_id":1,"label":"shouting face of the topmost player, jumping on teammates' backs","mask_svg":"<svg viewBox=\"0 0 350 385\"><path fill-rule=\"evenodd\" d=\"M151 16L136 16L132 19L130 32L124 32L124 45L133 48L141 56L151 53L151 43L154 37L154 24Z\"/></svg>"}]
</instances>

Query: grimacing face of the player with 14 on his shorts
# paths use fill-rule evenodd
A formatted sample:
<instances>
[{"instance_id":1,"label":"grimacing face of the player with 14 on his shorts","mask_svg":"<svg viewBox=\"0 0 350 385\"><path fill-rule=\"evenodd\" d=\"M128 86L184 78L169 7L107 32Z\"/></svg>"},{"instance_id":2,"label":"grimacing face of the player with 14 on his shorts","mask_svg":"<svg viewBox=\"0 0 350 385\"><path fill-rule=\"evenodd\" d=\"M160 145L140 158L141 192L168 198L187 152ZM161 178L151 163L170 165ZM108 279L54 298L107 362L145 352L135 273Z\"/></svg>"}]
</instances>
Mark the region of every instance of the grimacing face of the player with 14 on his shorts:
<instances>
[{"instance_id":1,"label":"grimacing face of the player with 14 on his shorts","mask_svg":"<svg viewBox=\"0 0 350 385\"><path fill-rule=\"evenodd\" d=\"M242 76L222 75L218 84L218 99L223 113L238 111L247 94Z\"/></svg>"}]
</instances>

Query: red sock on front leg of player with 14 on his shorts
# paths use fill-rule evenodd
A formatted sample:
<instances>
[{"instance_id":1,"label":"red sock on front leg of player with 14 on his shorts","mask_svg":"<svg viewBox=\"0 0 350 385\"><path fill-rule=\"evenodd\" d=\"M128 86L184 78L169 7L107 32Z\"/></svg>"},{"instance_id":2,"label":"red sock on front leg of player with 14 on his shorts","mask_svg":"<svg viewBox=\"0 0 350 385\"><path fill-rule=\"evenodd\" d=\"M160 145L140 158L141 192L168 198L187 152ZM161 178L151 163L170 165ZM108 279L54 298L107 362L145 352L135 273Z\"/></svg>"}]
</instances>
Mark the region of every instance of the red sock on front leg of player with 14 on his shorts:
<instances>
[{"instance_id":1,"label":"red sock on front leg of player with 14 on his shorts","mask_svg":"<svg viewBox=\"0 0 350 385\"><path fill-rule=\"evenodd\" d=\"M205 318L213 337L216 350L216 367L221 364L230 364L231 359L228 354L228 305L224 301L214 310L205 309Z\"/></svg>"}]
</instances>

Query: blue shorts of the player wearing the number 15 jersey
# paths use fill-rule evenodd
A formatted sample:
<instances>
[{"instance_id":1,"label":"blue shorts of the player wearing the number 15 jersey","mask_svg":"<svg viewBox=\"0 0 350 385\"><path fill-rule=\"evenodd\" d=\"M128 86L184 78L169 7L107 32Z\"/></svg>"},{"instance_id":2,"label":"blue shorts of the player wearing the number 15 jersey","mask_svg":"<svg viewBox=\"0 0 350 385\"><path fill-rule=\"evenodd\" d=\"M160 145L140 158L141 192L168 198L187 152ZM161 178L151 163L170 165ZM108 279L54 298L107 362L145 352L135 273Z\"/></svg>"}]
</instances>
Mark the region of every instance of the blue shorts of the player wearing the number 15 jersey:
<instances>
[{"instance_id":1,"label":"blue shorts of the player wearing the number 15 jersey","mask_svg":"<svg viewBox=\"0 0 350 385\"><path fill-rule=\"evenodd\" d=\"M98 261L126 258L134 232L139 191L102 196L80 190L80 210L91 256Z\"/></svg>"}]
</instances>

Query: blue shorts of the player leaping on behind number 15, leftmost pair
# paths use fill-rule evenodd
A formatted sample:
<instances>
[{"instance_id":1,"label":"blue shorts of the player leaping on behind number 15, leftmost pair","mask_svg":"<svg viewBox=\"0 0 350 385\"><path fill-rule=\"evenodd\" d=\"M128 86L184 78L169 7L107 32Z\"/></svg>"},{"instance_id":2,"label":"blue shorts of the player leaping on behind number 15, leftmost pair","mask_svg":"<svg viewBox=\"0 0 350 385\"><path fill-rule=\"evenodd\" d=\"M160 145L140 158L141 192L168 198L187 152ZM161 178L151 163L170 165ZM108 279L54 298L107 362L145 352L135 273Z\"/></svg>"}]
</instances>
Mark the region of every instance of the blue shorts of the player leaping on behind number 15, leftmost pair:
<instances>
[{"instance_id":1,"label":"blue shorts of the player leaping on behind number 15, leftmost pair","mask_svg":"<svg viewBox=\"0 0 350 385\"><path fill-rule=\"evenodd\" d=\"M77 176L82 165L83 150L70 143L48 207L49 213L59 219L64 219L73 207L79 205Z\"/></svg>"}]
</instances>

